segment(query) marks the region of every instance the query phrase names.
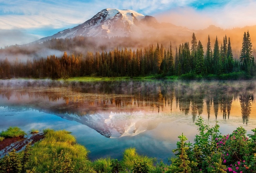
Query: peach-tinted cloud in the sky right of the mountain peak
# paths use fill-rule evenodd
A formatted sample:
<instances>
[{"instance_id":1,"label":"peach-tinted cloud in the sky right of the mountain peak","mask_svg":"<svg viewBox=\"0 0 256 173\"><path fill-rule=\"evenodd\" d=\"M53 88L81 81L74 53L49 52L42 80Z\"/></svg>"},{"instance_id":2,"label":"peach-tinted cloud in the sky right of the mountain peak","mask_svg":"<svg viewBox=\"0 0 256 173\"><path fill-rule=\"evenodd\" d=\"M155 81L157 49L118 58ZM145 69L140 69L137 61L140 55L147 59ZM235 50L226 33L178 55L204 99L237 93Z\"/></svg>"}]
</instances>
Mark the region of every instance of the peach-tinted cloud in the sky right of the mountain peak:
<instances>
[{"instance_id":1,"label":"peach-tinted cloud in the sky right of the mountain peak","mask_svg":"<svg viewBox=\"0 0 256 173\"><path fill-rule=\"evenodd\" d=\"M256 25L255 1L231 1L205 5L206 7L197 9L190 4L190 6L177 7L155 16L161 22L170 22L189 29L204 29L209 25L216 25L223 29Z\"/></svg>"}]
</instances>

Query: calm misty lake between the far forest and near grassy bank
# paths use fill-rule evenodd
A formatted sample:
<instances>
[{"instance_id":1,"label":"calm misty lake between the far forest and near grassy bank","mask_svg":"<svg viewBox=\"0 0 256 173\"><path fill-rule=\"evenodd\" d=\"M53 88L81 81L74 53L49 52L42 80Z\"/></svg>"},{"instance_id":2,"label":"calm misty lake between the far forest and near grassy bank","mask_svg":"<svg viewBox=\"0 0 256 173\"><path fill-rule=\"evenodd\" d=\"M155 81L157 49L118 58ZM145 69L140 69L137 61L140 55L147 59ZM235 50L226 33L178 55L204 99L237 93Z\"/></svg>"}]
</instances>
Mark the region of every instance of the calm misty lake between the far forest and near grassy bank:
<instances>
[{"instance_id":1,"label":"calm misty lake between the far forest and near grassy bank","mask_svg":"<svg viewBox=\"0 0 256 173\"><path fill-rule=\"evenodd\" d=\"M89 158L125 148L168 162L182 133L193 142L198 115L222 134L256 128L256 81L0 80L0 131L66 129Z\"/></svg>"}]
</instances>

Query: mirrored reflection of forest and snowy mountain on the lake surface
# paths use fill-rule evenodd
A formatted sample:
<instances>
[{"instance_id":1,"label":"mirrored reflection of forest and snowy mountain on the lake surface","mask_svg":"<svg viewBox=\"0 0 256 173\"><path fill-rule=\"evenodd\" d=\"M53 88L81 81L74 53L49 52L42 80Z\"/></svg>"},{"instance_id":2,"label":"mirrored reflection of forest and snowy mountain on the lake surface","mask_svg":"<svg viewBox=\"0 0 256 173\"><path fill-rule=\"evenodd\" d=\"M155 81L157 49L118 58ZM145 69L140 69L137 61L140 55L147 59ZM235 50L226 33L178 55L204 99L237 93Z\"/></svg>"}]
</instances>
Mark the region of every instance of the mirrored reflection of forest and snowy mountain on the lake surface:
<instances>
[{"instance_id":1,"label":"mirrored reflection of forest and snowy mountain on the lake surface","mask_svg":"<svg viewBox=\"0 0 256 173\"><path fill-rule=\"evenodd\" d=\"M229 119L240 112L249 123L254 81L0 81L0 106L21 106L56 114L95 129L106 137L136 135L159 125L156 119L176 114ZM240 107L237 107L237 102ZM232 104L235 104L233 106ZM253 116L256 119L255 116Z\"/></svg>"}]
</instances>

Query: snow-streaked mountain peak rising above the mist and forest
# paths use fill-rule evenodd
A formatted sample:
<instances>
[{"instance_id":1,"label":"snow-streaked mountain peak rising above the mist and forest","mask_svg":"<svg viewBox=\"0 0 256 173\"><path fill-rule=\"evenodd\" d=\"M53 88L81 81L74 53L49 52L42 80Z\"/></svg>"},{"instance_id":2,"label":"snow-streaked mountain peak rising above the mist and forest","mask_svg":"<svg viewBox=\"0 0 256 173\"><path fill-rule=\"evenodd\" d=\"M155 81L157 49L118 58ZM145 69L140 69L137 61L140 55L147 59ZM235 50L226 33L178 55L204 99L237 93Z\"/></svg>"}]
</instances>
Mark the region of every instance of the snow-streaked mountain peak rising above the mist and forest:
<instances>
[{"instance_id":1,"label":"snow-streaked mountain peak rising above the mist and forest","mask_svg":"<svg viewBox=\"0 0 256 173\"><path fill-rule=\"evenodd\" d=\"M74 36L131 36L133 34L143 34L145 28L156 29L159 23L152 16L145 16L133 10L118 10L106 8L72 29L66 29L50 38L72 38ZM143 29L144 28L144 29ZM42 39L41 39L42 40Z\"/></svg>"}]
</instances>

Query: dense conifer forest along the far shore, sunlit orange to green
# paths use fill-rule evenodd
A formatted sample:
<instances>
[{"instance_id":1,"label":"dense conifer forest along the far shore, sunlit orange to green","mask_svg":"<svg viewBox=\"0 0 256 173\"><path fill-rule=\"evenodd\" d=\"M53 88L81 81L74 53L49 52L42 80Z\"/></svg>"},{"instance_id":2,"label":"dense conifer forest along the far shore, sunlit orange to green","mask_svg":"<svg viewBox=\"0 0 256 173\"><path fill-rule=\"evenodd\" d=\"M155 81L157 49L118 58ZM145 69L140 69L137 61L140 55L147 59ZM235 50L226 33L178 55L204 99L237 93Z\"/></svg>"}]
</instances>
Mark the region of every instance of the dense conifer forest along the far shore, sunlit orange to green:
<instances>
[{"instance_id":1,"label":"dense conifer forest along the far shore, sunlit orange to green","mask_svg":"<svg viewBox=\"0 0 256 173\"><path fill-rule=\"evenodd\" d=\"M55 40L56 41L56 40ZM76 76L140 76L140 75L223 75L243 72L254 76L256 72L255 59L249 31L244 32L240 60L234 59L230 38L223 38L221 46L216 37L214 48L208 37L206 53L201 41L197 42L192 35L189 42L180 44L175 52L172 46L168 49L163 44L149 49L119 49L98 51L87 54L71 54L64 52L61 58L50 55L47 59L27 60L26 63L17 58L14 63L8 58L0 61L0 78L69 78Z\"/></svg>"}]
</instances>

